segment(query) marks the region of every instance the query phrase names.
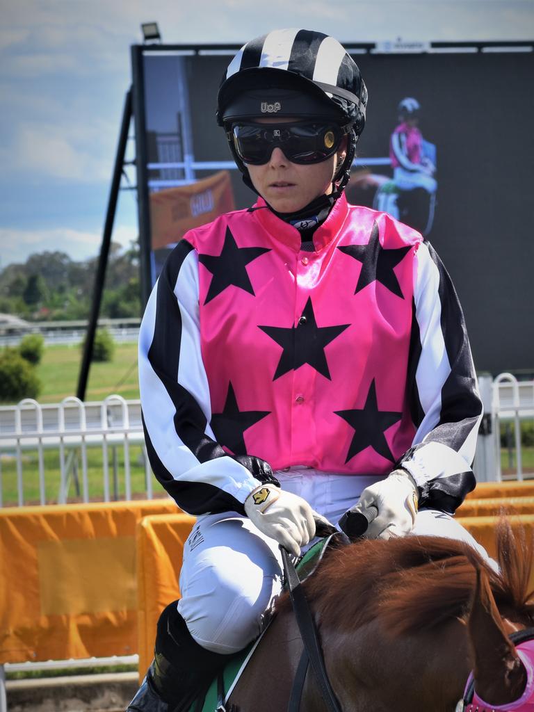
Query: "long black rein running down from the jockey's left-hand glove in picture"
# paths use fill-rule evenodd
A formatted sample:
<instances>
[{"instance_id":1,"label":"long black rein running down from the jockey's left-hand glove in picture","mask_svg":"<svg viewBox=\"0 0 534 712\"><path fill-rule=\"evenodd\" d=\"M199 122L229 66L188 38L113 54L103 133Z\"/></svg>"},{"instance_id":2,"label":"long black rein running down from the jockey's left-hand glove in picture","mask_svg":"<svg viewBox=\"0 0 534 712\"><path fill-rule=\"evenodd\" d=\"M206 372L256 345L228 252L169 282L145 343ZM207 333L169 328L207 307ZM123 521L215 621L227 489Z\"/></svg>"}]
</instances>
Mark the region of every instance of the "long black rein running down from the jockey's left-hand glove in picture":
<instances>
[{"instance_id":1,"label":"long black rein running down from the jockey's left-hand glove in picture","mask_svg":"<svg viewBox=\"0 0 534 712\"><path fill-rule=\"evenodd\" d=\"M286 549L281 547L283 570L289 587L289 596L293 604L295 619L297 620L300 636L303 639L304 650L310 660L315 679L319 690L329 712L342 712L339 702L328 680L325 668L323 651L321 650L317 629L310 611L308 601L304 595L303 587L300 585L298 573L295 571L293 562ZM302 662L302 660L301 660ZM300 664L299 664L300 668ZM298 709L298 708L297 708Z\"/></svg>"}]
</instances>

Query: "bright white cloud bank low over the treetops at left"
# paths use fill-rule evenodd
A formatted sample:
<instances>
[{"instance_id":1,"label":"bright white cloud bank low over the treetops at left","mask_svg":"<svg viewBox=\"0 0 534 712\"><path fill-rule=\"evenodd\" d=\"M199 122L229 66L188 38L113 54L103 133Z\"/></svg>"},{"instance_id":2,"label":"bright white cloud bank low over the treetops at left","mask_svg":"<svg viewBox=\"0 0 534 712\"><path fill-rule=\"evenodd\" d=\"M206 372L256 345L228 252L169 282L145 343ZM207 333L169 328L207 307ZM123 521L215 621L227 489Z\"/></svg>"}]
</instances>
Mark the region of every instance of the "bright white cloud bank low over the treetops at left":
<instances>
[{"instance_id":1,"label":"bright white cloud bank low over the treetops at left","mask_svg":"<svg viewBox=\"0 0 534 712\"><path fill-rule=\"evenodd\" d=\"M112 241L123 247L137 238L137 229L128 225L118 225L112 234ZM46 230L21 230L0 227L0 267L11 263L26 262L29 255L38 252L65 252L75 261L95 257L100 253L102 233L98 231L75 230L58 227Z\"/></svg>"}]
</instances>

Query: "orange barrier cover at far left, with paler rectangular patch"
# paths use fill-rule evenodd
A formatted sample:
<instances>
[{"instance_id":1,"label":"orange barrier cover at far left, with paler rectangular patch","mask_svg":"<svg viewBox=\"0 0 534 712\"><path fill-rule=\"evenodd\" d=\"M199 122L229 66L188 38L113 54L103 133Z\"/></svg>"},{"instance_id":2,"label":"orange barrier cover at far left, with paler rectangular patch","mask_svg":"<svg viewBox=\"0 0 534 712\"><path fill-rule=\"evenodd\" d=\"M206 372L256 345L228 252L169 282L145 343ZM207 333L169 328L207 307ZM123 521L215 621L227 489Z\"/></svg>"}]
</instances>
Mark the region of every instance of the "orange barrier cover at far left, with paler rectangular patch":
<instances>
[{"instance_id":1,"label":"orange barrier cover at far left, with paler rectangular patch","mask_svg":"<svg viewBox=\"0 0 534 712\"><path fill-rule=\"evenodd\" d=\"M171 499L0 510L0 664L137 652L135 526Z\"/></svg>"}]
</instances>

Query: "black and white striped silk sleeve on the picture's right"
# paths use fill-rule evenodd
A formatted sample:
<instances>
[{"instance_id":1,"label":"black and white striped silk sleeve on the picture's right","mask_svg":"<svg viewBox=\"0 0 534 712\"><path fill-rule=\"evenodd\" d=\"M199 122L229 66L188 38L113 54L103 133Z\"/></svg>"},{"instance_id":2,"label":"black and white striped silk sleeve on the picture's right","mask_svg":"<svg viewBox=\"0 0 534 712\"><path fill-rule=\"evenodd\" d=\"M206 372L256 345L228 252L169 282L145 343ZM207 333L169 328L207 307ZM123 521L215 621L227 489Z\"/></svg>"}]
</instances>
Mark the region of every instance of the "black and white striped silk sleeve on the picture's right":
<instances>
[{"instance_id":1,"label":"black and white striped silk sleeve on the picture's right","mask_svg":"<svg viewBox=\"0 0 534 712\"><path fill-rule=\"evenodd\" d=\"M456 290L426 242L414 263L408 377L417 433L397 466L414 477L419 506L454 512L476 484L471 464L483 407Z\"/></svg>"}]
</instances>

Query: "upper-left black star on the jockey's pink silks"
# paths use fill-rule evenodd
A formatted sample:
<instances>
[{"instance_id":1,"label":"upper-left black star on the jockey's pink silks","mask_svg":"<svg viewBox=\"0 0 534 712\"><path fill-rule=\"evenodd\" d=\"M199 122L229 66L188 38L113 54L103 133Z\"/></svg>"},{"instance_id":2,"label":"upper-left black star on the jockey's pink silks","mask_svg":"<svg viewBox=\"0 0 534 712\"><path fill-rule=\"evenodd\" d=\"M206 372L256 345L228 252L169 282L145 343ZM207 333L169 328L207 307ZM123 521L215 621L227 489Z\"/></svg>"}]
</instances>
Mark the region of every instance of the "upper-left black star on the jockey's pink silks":
<instances>
[{"instance_id":1,"label":"upper-left black star on the jockey's pink silks","mask_svg":"<svg viewBox=\"0 0 534 712\"><path fill-rule=\"evenodd\" d=\"M213 275L204 304L231 285L253 295L254 290L248 278L246 266L256 257L269 251L268 247L238 247L230 228L227 227L224 245L219 256L199 254L199 262Z\"/></svg>"}]
</instances>

